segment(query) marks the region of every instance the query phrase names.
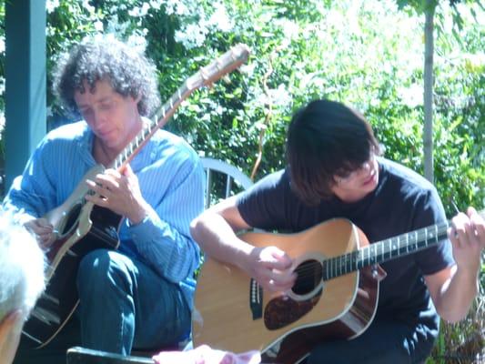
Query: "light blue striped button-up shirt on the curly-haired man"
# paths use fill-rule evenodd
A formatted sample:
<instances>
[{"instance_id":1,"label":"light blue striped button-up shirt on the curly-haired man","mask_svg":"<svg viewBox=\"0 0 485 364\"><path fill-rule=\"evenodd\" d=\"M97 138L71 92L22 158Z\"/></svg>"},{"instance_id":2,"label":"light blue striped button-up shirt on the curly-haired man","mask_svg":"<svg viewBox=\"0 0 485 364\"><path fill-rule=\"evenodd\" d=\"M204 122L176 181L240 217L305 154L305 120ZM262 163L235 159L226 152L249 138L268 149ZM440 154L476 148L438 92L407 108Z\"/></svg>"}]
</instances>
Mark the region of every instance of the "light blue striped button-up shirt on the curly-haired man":
<instances>
[{"instance_id":1,"label":"light blue striped button-up shirt on the curly-haired man","mask_svg":"<svg viewBox=\"0 0 485 364\"><path fill-rule=\"evenodd\" d=\"M94 135L86 122L48 133L5 197L7 208L43 217L61 205L86 172L96 166ZM143 197L153 208L136 226L125 219L119 251L145 261L160 277L180 286L192 308L199 248L190 221L204 208L204 170L197 153L180 137L158 130L130 162Z\"/></svg>"}]
</instances>

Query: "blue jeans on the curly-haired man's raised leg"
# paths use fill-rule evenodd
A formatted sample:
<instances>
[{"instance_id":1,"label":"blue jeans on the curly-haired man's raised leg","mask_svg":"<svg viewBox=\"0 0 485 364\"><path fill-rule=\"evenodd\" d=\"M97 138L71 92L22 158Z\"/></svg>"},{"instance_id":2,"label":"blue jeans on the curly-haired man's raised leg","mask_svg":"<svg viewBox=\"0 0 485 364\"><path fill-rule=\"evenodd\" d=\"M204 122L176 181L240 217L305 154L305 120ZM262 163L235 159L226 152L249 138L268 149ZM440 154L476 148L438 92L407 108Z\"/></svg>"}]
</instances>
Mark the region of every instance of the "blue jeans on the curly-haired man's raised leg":
<instances>
[{"instance_id":1,"label":"blue jeans on the curly-haired man's raised leg","mask_svg":"<svg viewBox=\"0 0 485 364\"><path fill-rule=\"evenodd\" d=\"M190 310L178 286L116 251L83 258L77 291L86 348L127 355L174 345L189 333Z\"/></svg>"}]
</instances>

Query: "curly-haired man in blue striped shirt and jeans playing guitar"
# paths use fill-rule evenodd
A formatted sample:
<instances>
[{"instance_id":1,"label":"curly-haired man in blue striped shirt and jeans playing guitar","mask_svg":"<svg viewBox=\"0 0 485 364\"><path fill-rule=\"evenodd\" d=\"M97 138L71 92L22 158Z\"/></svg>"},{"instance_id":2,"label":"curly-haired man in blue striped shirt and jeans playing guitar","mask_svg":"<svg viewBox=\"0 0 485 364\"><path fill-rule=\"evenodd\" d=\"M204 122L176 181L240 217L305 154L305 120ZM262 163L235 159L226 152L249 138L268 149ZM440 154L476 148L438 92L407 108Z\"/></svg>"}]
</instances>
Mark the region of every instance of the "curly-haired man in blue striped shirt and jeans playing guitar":
<instances>
[{"instance_id":1,"label":"curly-haired man in blue striped shirt and jeans playing guitar","mask_svg":"<svg viewBox=\"0 0 485 364\"><path fill-rule=\"evenodd\" d=\"M93 191L87 201L124 218L119 248L95 249L79 264L79 306L69 325L76 327L78 319L81 342L63 338L61 330L45 349L62 347L62 341L127 355L132 348L173 346L189 333L199 262L188 230L204 206L197 153L180 137L157 130L124 169L110 168L159 105L155 66L113 36L96 35L74 46L57 65L54 86L64 106L84 120L45 136L5 205L24 211L25 226L43 248L56 236L45 213L78 184ZM107 169L82 180L96 165ZM29 360L43 351L25 350L19 351Z\"/></svg>"}]
</instances>

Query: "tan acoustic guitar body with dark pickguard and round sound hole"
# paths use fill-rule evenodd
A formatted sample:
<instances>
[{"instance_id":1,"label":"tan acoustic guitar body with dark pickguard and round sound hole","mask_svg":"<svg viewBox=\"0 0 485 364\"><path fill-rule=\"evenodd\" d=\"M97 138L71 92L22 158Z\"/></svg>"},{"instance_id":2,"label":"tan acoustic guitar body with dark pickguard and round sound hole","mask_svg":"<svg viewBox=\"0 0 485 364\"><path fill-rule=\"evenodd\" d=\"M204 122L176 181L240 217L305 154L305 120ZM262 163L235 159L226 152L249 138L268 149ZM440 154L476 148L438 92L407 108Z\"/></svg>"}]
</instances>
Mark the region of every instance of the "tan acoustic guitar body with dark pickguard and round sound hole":
<instances>
[{"instance_id":1,"label":"tan acoustic guitar body with dark pickguard and round sound hole","mask_svg":"<svg viewBox=\"0 0 485 364\"><path fill-rule=\"evenodd\" d=\"M321 269L308 266L369 245L358 227L334 219L298 234L248 233L240 238L287 252L296 261L297 283L288 296L268 292L235 266L207 258L197 278L195 346L233 352L259 349L265 363L297 363L318 342L351 339L367 329L376 312L383 270L368 267L324 281ZM310 278L300 280L308 268Z\"/></svg>"}]
</instances>

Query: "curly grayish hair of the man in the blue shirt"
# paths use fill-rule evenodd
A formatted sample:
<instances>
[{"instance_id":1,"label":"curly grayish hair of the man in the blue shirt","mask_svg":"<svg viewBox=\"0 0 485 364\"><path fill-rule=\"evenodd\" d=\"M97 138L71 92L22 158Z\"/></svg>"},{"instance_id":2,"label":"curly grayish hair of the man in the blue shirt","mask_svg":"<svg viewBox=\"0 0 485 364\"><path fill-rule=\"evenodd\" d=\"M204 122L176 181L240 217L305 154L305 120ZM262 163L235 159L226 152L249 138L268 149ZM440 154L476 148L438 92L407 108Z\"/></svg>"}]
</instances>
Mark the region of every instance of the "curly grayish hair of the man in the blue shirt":
<instances>
[{"instance_id":1,"label":"curly grayish hair of the man in the blue shirt","mask_svg":"<svg viewBox=\"0 0 485 364\"><path fill-rule=\"evenodd\" d=\"M62 57L54 73L54 92L70 112L76 112L74 94L91 90L96 81L108 80L121 96L141 96L138 112L151 116L160 105L156 67L146 56L114 36L96 35L83 39Z\"/></svg>"}]
</instances>

